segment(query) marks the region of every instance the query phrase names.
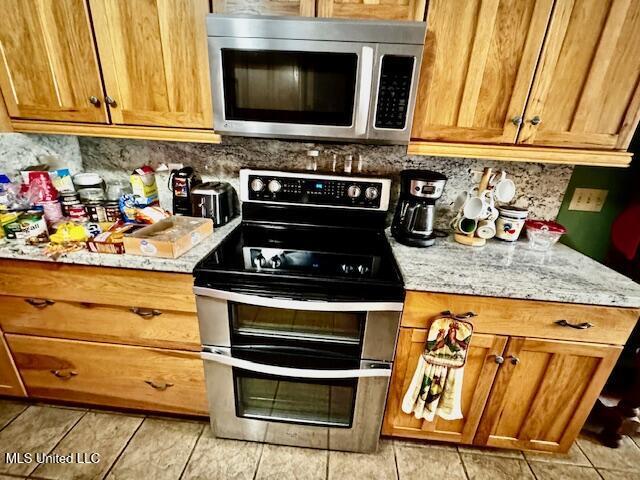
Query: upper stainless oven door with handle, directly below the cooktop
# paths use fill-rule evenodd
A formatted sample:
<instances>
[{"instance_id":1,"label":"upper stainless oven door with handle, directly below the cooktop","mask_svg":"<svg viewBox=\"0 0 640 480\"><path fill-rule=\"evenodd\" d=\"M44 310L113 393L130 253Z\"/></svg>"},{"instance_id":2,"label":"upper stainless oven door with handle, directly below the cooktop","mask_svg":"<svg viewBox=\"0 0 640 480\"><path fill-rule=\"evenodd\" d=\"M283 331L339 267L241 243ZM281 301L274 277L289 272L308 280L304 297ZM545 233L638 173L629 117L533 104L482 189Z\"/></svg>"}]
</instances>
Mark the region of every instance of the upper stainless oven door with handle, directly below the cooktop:
<instances>
[{"instance_id":1,"label":"upper stainless oven door with handle, directly below the cooktop","mask_svg":"<svg viewBox=\"0 0 640 480\"><path fill-rule=\"evenodd\" d=\"M391 361L402 303L290 300L194 287L205 346L269 346Z\"/></svg>"}]
</instances>

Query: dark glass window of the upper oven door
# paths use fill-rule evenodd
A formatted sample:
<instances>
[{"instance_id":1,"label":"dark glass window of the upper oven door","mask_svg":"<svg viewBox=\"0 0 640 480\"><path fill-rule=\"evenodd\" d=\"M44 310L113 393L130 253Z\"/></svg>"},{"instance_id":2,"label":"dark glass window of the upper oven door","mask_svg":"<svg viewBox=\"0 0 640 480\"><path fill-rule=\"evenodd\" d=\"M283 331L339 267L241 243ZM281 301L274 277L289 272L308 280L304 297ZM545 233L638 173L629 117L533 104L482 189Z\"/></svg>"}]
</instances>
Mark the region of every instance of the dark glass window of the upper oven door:
<instances>
[{"instance_id":1,"label":"dark glass window of the upper oven door","mask_svg":"<svg viewBox=\"0 0 640 480\"><path fill-rule=\"evenodd\" d=\"M231 304L234 335L359 345L365 312L314 312Z\"/></svg>"}]
</instances>

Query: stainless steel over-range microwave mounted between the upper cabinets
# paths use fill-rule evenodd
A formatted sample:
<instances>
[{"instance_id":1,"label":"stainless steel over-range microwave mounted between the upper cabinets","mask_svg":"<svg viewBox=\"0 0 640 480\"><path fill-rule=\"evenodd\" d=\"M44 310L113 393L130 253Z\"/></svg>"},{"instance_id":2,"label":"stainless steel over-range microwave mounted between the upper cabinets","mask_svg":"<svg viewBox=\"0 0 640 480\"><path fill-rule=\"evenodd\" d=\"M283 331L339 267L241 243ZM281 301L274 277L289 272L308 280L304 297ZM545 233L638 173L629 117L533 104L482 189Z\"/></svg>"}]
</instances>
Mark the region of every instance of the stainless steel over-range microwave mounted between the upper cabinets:
<instances>
[{"instance_id":1,"label":"stainless steel over-range microwave mounted between the upper cabinets","mask_svg":"<svg viewBox=\"0 0 640 480\"><path fill-rule=\"evenodd\" d=\"M209 15L214 128L406 143L426 24Z\"/></svg>"}]
</instances>

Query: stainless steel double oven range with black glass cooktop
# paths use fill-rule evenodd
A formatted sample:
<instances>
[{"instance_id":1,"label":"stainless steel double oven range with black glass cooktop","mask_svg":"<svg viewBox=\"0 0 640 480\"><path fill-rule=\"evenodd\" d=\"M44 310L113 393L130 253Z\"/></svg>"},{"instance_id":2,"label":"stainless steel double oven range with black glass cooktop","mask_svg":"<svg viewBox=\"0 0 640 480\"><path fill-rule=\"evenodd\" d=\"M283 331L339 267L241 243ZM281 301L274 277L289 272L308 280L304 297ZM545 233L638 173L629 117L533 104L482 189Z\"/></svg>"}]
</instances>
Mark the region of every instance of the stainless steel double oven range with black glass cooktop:
<instances>
[{"instance_id":1,"label":"stainless steel double oven range with black glass cooktop","mask_svg":"<svg viewBox=\"0 0 640 480\"><path fill-rule=\"evenodd\" d=\"M243 221L194 270L219 437L374 451L404 299L390 181L243 170Z\"/></svg>"}]
</instances>

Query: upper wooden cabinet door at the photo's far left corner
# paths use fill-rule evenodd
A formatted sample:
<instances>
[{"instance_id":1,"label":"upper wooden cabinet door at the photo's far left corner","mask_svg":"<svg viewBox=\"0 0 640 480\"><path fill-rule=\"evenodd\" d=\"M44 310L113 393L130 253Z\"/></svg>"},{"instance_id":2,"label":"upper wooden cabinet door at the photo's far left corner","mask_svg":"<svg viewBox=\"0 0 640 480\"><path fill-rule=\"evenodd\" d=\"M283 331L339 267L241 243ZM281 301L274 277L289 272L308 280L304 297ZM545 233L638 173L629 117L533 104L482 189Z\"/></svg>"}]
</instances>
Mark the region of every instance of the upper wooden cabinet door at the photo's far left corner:
<instances>
[{"instance_id":1,"label":"upper wooden cabinet door at the photo's far left corner","mask_svg":"<svg viewBox=\"0 0 640 480\"><path fill-rule=\"evenodd\" d=\"M9 115L106 123L85 1L4 0L2 7L0 88Z\"/></svg>"}]
</instances>

